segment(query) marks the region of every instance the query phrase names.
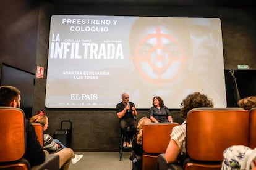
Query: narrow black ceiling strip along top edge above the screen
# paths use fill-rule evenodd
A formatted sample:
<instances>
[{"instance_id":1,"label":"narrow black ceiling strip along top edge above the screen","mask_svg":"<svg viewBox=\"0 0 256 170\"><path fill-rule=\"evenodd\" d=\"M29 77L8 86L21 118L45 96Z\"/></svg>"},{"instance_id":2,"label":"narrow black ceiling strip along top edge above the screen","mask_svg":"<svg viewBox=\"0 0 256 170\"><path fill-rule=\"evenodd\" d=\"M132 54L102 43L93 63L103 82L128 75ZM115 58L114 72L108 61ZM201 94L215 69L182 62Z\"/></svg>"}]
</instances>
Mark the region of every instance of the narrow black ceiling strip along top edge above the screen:
<instances>
[{"instance_id":1,"label":"narrow black ceiling strip along top edge above the screen","mask_svg":"<svg viewBox=\"0 0 256 170\"><path fill-rule=\"evenodd\" d=\"M49 0L54 4L176 7L254 7L253 0Z\"/></svg>"}]
</instances>

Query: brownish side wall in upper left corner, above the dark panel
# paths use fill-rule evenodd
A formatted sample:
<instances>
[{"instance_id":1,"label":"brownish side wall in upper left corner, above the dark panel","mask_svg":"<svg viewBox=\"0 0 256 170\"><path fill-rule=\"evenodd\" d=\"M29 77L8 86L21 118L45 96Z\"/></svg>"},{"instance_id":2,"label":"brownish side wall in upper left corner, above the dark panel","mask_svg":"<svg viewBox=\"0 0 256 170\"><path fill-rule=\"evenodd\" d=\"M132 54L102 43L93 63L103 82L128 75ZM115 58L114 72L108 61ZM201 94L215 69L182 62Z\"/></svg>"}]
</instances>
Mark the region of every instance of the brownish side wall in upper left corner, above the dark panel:
<instances>
[{"instance_id":1,"label":"brownish side wall in upper left corner, above the dark panel","mask_svg":"<svg viewBox=\"0 0 256 170\"><path fill-rule=\"evenodd\" d=\"M39 4L33 0L0 2L1 66L6 63L35 73Z\"/></svg>"}]
</instances>

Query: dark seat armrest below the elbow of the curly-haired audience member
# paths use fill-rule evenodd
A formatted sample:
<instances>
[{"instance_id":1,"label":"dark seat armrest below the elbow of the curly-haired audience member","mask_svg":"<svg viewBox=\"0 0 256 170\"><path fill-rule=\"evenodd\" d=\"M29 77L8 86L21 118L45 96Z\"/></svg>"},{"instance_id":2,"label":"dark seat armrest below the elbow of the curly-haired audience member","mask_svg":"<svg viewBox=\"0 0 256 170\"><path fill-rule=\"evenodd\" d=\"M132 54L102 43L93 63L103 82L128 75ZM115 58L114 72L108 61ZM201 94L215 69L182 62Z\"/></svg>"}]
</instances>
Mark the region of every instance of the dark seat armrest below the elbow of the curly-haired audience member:
<instances>
[{"instance_id":1,"label":"dark seat armrest below the elbow of the curly-haired audience member","mask_svg":"<svg viewBox=\"0 0 256 170\"><path fill-rule=\"evenodd\" d=\"M161 153L158 155L157 163L156 163L157 170L182 170L182 164L179 163L166 163L165 160L165 153Z\"/></svg>"}]
</instances>

